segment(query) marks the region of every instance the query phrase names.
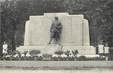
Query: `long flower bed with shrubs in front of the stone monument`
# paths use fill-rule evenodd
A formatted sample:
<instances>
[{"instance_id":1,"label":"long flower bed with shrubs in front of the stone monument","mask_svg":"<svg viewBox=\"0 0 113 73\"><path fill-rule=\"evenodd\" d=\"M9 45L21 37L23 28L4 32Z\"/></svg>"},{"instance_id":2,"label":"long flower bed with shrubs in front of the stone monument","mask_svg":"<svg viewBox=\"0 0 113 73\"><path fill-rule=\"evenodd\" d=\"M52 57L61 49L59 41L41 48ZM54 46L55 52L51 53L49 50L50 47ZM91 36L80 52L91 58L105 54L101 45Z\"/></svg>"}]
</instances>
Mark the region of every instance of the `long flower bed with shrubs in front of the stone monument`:
<instances>
[{"instance_id":1,"label":"long flower bed with shrubs in front of the stone monument","mask_svg":"<svg viewBox=\"0 0 113 73\"><path fill-rule=\"evenodd\" d=\"M56 51L54 54L42 54L39 50L25 51L20 53L14 51L1 60L27 60L27 61L88 61L88 60L105 60L105 56L100 55L79 55L77 50L74 51Z\"/></svg>"}]
</instances>

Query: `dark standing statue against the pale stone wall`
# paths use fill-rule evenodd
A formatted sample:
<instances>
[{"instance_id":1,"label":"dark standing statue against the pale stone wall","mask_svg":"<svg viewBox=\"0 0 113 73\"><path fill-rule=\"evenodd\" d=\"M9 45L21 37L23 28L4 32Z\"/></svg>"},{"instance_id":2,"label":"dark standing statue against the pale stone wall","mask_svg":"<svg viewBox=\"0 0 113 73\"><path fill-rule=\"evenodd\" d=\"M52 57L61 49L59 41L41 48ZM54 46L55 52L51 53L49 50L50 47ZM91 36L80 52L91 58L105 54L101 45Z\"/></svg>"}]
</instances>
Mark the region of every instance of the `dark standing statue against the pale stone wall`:
<instances>
[{"instance_id":1,"label":"dark standing statue against the pale stone wall","mask_svg":"<svg viewBox=\"0 0 113 73\"><path fill-rule=\"evenodd\" d=\"M62 33L62 24L59 21L58 17L55 17L50 28L49 44L51 44L52 40L54 40L55 44L59 44L61 33Z\"/></svg>"}]
</instances>

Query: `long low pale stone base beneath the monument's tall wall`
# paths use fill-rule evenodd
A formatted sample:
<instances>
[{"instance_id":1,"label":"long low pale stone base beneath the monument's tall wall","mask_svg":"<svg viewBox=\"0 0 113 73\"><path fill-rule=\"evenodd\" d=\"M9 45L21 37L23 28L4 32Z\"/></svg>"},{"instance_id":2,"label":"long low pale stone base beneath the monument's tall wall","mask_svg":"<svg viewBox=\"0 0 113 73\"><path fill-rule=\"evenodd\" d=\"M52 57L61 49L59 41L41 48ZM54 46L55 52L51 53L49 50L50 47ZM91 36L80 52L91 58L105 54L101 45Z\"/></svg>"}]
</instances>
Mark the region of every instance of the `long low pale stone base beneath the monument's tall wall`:
<instances>
[{"instance_id":1,"label":"long low pale stone base beneath the monument's tall wall","mask_svg":"<svg viewBox=\"0 0 113 73\"><path fill-rule=\"evenodd\" d=\"M61 46L61 45L46 45L46 46L20 46L17 47L17 50L20 52L31 51L31 50L40 50L42 53L53 54L58 50L78 50L80 55L95 55L96 49L93 46Z\"/></svg>"}]
</instances>

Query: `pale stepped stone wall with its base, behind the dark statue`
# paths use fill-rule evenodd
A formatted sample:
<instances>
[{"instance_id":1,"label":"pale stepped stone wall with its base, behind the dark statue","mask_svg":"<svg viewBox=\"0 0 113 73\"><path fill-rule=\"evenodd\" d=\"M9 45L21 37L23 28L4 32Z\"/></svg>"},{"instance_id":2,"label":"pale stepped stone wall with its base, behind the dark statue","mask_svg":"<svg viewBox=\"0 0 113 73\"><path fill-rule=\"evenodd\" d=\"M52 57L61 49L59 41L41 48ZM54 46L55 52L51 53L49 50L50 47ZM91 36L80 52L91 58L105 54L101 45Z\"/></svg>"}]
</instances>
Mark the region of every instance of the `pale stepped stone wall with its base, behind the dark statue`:
<instances>
[{"instance_id":1,"label":"pale stepped stone wall with its base, behind the dark statue","mask_svg":"<svg viewBox=\"0 0 113 73\"><path fill-rule=\"evenodd\" d=\"M40 16L30 16L30 20L25 25L24 46L17 50L23 51L26 48L26 50L39 49L47 52L51 47L55 49L56 45L47 45L50 40L50 27L55 16L63 25L62 50L78 49L80 54L95 54L95 48L90 46L88 21L83 15L68 13L44 13Z\"/></svg>"}]
</instances>

